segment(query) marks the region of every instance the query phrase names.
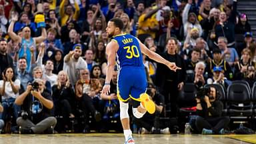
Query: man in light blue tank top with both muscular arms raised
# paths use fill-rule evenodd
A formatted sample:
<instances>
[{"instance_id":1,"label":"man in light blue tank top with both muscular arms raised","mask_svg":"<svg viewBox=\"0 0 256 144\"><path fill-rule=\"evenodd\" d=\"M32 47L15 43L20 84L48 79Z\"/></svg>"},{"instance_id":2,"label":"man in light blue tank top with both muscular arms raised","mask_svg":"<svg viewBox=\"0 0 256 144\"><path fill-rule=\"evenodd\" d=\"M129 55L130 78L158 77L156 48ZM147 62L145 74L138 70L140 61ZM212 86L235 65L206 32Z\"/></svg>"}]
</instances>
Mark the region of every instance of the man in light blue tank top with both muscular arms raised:
<instances>
[{"instance_id":1,"label":"man in light blue tank top with both muscular arms raised","mask_svg":"<svg viewBox=\"0 0 256 144\"><path fill-rule=\"evenodd\" d=\"M13 32L13 25L15 21L17 21L17 15L12 17L12 21L8 28L8 34L13 41L21 43L21 49L19 49L19 57L26 57L27 70L29 71L31 69L31 63L35 61L36 57L35 45L37 43L41 43L42 41L44 41L47 37L47 33L45 28L42 27L42 33L40 37L31 37L31 29L29 27L24 27L22 30L23 33L21 37Z\"/></svg>"}]
</instances>

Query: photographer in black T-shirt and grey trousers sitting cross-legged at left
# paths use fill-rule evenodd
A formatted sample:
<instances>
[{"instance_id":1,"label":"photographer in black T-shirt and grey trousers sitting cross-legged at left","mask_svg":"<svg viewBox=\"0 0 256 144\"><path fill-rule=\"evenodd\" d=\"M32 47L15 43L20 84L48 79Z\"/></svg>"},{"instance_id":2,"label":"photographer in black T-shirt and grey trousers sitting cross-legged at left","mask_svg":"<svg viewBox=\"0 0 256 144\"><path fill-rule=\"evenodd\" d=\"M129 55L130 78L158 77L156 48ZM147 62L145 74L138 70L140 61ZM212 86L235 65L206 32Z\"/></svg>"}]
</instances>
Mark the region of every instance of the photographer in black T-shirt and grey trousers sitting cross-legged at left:
<instances>
[{"instance_id":1,"label":"photographer in black T-shirt and grey trousers sitting cross-legged at left","mask_svg":"<svg viewBox=\"0 0 256 144\"><path fill-rule=\"evenodd\" d=\"M43 133L55 127L57 120L51 117L53 99L45 91L43 80L35 79L32 84L27 85L26 91L16 98L15 104L22 105L24 110L17 119L21 133Z\"/></svg>"}]
</instances>

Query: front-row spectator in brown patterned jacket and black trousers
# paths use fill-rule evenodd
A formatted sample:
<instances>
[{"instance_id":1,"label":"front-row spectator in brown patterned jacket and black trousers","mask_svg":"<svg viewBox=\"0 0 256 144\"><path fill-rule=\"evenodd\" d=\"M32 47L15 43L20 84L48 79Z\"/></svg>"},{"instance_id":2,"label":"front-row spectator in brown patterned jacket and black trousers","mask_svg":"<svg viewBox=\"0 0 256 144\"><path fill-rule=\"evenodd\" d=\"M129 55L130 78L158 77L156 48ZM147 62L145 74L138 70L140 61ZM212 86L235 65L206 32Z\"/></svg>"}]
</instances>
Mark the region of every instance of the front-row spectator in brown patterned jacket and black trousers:
<instances>
[{"instance_id":1,"label":"front-row spectator in brown patterned jacket and black trousers","mask_svg":"<svg viewBox=\"0 0 256 144\"><path fill-rule=\"evenodd\" d=\"M97 99L99 91L102 89L101 82L98 79L91 79L88 69L80 70L80 79L75 83L75 95L78 99L79 108L85 113L85 129L83 133L89 132L89 113L93 115L95 121L101 121L99 113L93 105L93 99Z\"/></svg>"}]
</instances>

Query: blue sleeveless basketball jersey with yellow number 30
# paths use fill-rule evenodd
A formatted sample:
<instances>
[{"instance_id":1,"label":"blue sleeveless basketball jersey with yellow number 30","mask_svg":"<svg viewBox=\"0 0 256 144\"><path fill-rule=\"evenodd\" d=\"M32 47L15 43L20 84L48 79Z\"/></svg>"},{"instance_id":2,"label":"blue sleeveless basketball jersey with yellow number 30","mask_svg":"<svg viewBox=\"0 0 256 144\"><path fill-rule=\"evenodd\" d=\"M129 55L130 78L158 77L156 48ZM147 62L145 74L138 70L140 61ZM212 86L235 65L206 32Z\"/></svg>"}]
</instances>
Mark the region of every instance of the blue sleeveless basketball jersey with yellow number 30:
<instances>
[{"instance_id":1,"label":"blue sleeveless basketball jersey with yellow number 30","mask_svg":"<svg viewBox=\"0 0 256 144\"><path fill-rule=\"evenodd\" d=\"M139 41L130 34L121 34L113 37L112 41L116 41L119 45L117 51L117 64L119 69L125 66L144 67Z\"/></svg>"}]
</instances>

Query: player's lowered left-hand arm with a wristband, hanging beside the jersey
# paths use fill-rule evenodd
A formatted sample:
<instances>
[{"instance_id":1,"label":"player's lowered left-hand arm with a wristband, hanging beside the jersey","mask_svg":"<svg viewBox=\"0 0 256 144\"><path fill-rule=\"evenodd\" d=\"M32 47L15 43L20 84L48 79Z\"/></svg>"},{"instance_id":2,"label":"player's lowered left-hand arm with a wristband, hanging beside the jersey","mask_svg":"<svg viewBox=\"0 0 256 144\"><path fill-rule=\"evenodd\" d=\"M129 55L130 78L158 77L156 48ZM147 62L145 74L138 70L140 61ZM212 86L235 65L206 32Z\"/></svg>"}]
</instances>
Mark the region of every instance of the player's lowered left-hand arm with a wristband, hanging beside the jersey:
<instances>
[{"instance_id":1,"label":"player's lowered left-hand arm with a wristband, hanging beside the jersey","mask_svg":"<svg viewBox=\"0 0 256 144\"><path fill-rule=\"evenodd\" d=\"M116 55L116 49L118 47L118 44L111 41L107 44L106 47L106 53L107 53L107 73L106 73L106 79L105 79L105 85L103 87L102 93L103 94L109 94L110 93L110 81L113 76L113 71L115 69L115 55Z\"/></svg>"}]
</instances>

